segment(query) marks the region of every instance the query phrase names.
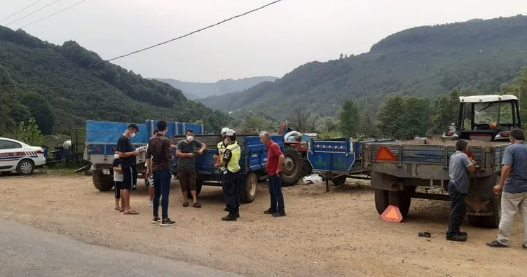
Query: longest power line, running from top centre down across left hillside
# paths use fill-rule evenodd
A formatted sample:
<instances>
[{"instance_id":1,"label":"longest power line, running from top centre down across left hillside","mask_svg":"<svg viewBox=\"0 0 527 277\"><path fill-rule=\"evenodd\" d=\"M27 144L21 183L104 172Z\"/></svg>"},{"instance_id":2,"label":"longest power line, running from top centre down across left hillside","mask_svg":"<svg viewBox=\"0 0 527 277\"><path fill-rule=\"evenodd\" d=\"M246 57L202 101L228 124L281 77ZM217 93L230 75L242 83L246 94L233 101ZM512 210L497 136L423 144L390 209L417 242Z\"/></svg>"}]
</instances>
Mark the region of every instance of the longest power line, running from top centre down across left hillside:
<instances>
[{"instance_id":1,"label":"longest power line, running from top centre down across left hillside","mask_svg":"<svg viewBox=\"0 0 527 277\"><path fill-rule=\"evenodd\" d=\"M60 0L57 0L57 1L60 1ZM105 62L111 62L112 60L117 60L117 59L125 58L125 57L128 57L128 56L130 56L130 55L133 55L133 54L136 54L136 53L142 52L142 51L144 51L144 50L149 50L149 49L151 49L151 48L156 48L156 47L158 47L158 46L162 46L163 44L166 44L166 43L169 43L169 42L172 42L172 41L177 41L178 39L183 39L183 38L185 38L186 36L191 36L192 34L196 34L196 33L198 33L198 32L205 31L206 29L210 29L210 28L215 27L215 26L217 26L217 25L221 25L221 24L223 24L223 23L225 23L225 22L228 22L228 21L231 21L231 20L233 20L233 19L241 18L241 17L244 16L244 15L248 15L249 13L254 13L255 11L259 11L259 10L261 10L261 9L263 9L263 8L266 8L266 7L271 6L271 5L273 5L273 4L277 4L278 2L281 2L281 1L282 1L282 0L276 0L276 1L273 1L273 2L271 2L271 3L268 3L268 4L265 4L265 5L261 6L261 7L259 7L259 8L254 8L254 9L252 9L251 11L247 11L247 12L245 12L245 13L240 13L239 15L235 15L235 16L233 16L233 17L231 17L231 18L227 18L226 20L222 20L222 21L217 22L217 23L214 23L214 24L212 24L212 25L208 25L207 27L203 27L203 28L201 28L201 29L197 29L196 31L190 32L190 33L188 33L188 34L184 34L184 35L182 35L182 36L178 36L178 37L176 37L176 38L174 38L174 39L169 39L169 40L167 40L167 41L163 41L163 42L161 42L161 43L157 43L157 44L155 44L155 45L153 45L153 46L149 46L149 47L146 47L146 48L142 48L142 49L139 49L139 50L135 50L135 51L130 52L130 53L128 53L128 54L120 55L120 56L118 56L118 57L116 57L116 58L111 58L111 59L109 59L109 60L103 60L102 62L97 62L97 63L95 63L95 64L88 65L88 66L85 66L85 67L80 67L80 68L73 69L73 70L70 70L70 71L67 71L67 72L62 72L62 73L58 73L58 74L50 74L50 75L48 75L48 76L43 76L43 77L40 77L40 78L34 79L33 81L27 81L27 82L22 82L22 83L18 83L18 84L20 85L20 84L24 84L24 83L32 83L32 82L34 82L34 81L39 81L39 80L41 80L41 79L47 79L47 78L50 78L50 77L55 77L55 76L60 76L60 75L64 75L64 74L74 73L74 72L81 71L82 69L88 69L88 68L90 68L90 67L95 67L95 66L97 66L97 65L102 65L102 64L104 64ZM4 85L4 86L0 86L0 88L1 88L1 87L5 87L5 86L12 86L12 85Z\"/></svg>"}]
</instances>

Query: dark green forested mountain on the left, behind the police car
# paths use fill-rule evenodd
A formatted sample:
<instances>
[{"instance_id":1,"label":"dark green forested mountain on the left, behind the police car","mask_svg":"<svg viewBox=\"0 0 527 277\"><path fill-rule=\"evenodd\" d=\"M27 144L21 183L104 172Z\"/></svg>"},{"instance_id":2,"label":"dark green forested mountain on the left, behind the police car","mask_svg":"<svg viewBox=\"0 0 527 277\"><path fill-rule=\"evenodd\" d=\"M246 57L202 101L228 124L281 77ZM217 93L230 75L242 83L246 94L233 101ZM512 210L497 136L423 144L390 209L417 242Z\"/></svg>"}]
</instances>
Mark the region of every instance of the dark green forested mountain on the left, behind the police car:
<instances>
[{"instance_id":1,"label":"dark green forested mountain on the left, behind the police car","mask_svg":"<svg viewBox=\"0 0 527 277\"><path fill-rule=\"evenodd\" d=\"M57 46L0 26L0 136L13 135L31 116L44 134L69 133L86 119L201 121L207 130L231 120L167 83L110 63L64 74L101 61L75 41Z\"/></svg>"}]
</instances>

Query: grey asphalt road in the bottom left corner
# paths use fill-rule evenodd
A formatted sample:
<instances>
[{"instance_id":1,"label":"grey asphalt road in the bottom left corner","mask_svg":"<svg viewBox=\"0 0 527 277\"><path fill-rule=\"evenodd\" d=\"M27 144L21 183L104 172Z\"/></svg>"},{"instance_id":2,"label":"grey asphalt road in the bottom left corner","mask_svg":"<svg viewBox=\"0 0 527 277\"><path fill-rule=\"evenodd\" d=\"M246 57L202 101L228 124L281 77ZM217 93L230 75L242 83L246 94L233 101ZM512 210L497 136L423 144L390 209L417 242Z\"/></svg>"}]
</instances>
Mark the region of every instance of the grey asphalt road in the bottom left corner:
<instances>
[{"instance_id":1,"label":"grey asphalt road in the bottom left corner","mask_svg":"<svg viewBox=\"0 0 527 277\"><path fill-rule=\"evenodd\" d=\"M0 219L0 276L238 276L135 252L88 245Z\"/></svg>"}]
</instances>

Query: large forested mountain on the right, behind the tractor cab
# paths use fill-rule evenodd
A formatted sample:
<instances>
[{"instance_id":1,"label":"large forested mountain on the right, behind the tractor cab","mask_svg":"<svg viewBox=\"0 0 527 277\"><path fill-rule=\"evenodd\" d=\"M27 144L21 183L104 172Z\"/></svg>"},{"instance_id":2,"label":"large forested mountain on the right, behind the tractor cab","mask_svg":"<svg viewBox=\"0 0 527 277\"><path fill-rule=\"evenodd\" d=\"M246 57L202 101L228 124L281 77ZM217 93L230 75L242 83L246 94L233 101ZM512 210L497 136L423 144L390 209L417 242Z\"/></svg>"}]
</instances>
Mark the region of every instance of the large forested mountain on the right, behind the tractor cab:
<instances>
[{"instance_id":1,"label":"large forested mountain on the right, behind the tractor cab","mask_svg":"<svg viewBox=\"0 0 527 277\"><path fill-rule=\"evenodd\" d=\"M200 102L281 120L295 107L333 116L350 98L374 116L385 95L394 93L430 98L454 88L498 93L526 64L526 16L470 20L406 29L378 41L368 53L308 62L273 83Z\"/></svg>"}]
</instances>

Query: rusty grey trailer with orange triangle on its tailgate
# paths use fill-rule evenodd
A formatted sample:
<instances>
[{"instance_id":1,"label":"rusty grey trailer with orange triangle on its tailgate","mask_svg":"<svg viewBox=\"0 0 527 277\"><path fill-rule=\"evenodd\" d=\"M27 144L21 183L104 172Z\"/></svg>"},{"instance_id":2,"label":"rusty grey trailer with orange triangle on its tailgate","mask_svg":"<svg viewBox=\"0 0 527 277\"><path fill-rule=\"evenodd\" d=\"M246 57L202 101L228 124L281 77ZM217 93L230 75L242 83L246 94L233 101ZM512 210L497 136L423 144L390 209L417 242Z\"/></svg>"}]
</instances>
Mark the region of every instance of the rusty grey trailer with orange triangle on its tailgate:
<instances>
[{"instance_id":1,"label":"rusty grey trailer with orange triangle on its tailgate","mask_svg":"<svg viewBox=\"0 0 527 277\"><path fill-rule=\"evenodd\" d=\"M362 169L371 175L375 188L376 209L381 214L388 205L398 205L403 217L409 211L411 198L450 200L447 191L450 156L456 152L456 141L409 140L364 144ZM477 227L498 227L500 195L493 193L507 142L469 142L468 156L477 162L470 176L467 215ZM416 191L422 187L423 191ZM430 193L430 191L439 191Z\"/></svg>"}]
</instances>

